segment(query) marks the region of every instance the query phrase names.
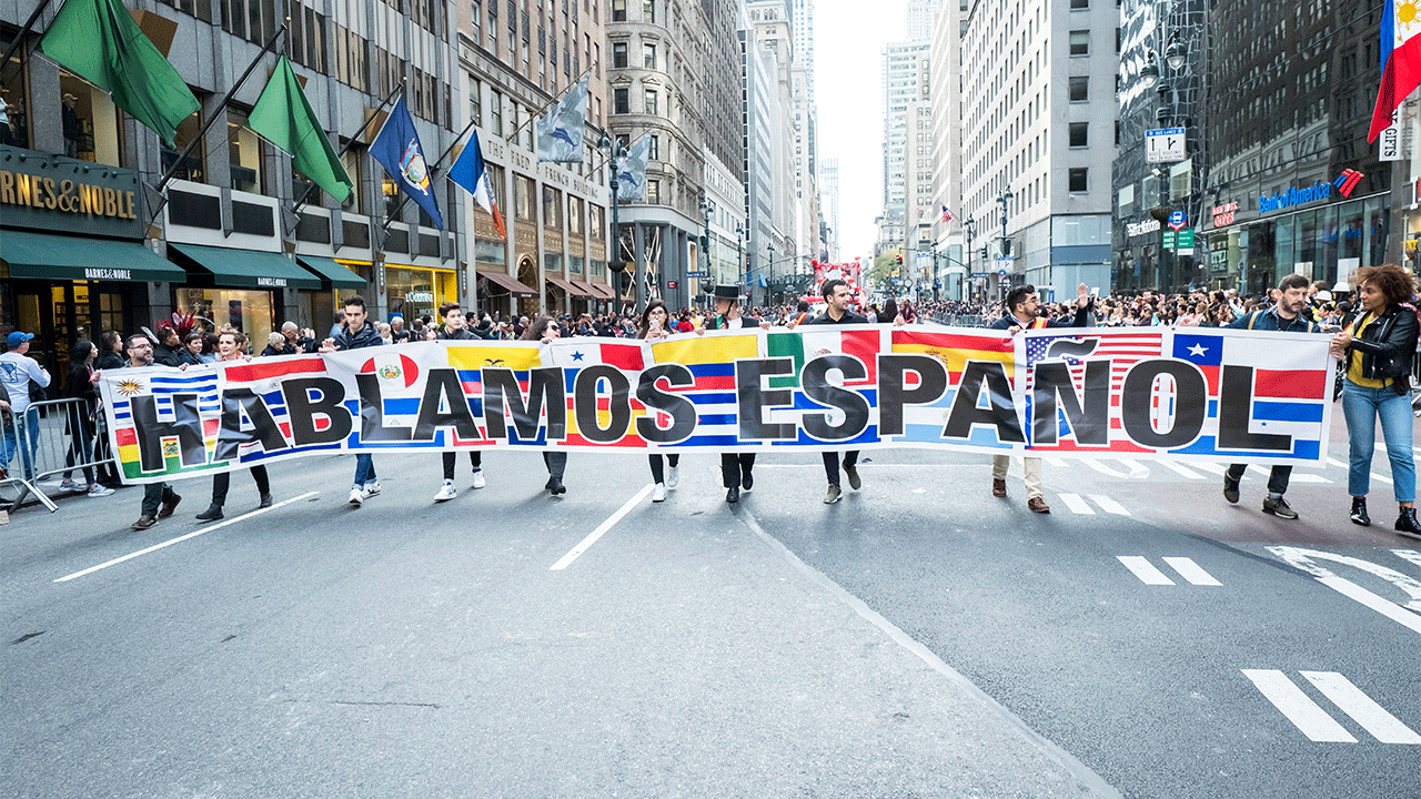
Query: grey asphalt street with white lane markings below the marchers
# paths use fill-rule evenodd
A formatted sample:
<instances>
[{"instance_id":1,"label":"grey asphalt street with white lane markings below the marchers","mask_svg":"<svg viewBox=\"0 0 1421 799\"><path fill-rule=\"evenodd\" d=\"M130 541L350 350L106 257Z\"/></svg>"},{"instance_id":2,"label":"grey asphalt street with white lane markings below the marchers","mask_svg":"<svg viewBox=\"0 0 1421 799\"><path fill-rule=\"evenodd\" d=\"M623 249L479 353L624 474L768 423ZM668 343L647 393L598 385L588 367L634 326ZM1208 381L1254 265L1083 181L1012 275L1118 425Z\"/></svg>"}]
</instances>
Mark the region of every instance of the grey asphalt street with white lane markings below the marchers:
<instances>
[{"instance_id":1,"label":"grey asphalt street with white lane markings below the marchers","mask_svg":"<svg viewBox=\"0 0 1421 799\"><path fill-rule=\"evenodd\" d=\"M6 795L1421 796L1421 546L1347 520L1346 431L1265 475L1049 459L1049 516L990 465L762 458L723 502L686 455L273 468L30 506L0 527ZM1387 476L1384 454L1373 465ZM165 546L166 545L166 546ZM1410 603L1410 608L1404 607Z\"/></svg>"}]
</instances>

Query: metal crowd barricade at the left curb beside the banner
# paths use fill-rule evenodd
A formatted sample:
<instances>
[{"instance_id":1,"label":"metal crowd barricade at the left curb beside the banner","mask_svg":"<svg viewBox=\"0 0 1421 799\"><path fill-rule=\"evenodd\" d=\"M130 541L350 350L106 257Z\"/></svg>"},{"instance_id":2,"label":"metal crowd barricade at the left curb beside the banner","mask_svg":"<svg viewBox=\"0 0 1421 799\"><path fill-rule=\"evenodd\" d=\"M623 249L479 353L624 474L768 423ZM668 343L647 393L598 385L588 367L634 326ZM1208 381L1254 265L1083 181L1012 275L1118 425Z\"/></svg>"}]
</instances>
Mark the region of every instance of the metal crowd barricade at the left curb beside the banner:
<instances>
[{"instance_id":1,"label":"metal crowd barricade at the left curb beside the banner","mask_svg":"<svg viewBox=\"0 0 1421 799\"><path fill-rule=\"evenodd\" d=\"M16 509L33 493L53 513L58 506L34 483L63 472L80 472L82 479L85 466L94 469L114 461L112 454L107 454L107 442L99 438L99 419L90 417L92 409L94 405L82 398L45 400L31 402L23 415L14 418L16 452L10 456L9 475L0 479L0 488L18 490ZM105 456L99 458L99 454Z\"/></svg>"}]
</instances>

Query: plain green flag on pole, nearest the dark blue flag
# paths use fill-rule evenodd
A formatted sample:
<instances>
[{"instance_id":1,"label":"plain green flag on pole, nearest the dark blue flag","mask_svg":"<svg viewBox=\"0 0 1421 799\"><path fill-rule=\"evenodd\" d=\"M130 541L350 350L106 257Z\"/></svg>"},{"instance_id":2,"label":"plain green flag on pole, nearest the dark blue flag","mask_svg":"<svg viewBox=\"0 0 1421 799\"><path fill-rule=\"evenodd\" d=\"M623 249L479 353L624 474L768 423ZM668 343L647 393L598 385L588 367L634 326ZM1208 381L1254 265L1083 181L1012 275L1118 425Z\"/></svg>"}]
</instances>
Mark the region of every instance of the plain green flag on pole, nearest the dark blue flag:
<instances>
[{"instance_id":1,"label":"plain green flag on pole, nearest the dark blue flag","mask_svg":"<svg viewBox=\"0 0 1421 799\"><path fill-rule=\"evenodd\" d=\"M313 183L325 189L337 202L351 196L352 185L341 159L331 148L321 124L311 111L301 82L283 55L267 81L257 104L247 115L247 127L291 155L291 163Z\"/></svg>"}]
</instances>

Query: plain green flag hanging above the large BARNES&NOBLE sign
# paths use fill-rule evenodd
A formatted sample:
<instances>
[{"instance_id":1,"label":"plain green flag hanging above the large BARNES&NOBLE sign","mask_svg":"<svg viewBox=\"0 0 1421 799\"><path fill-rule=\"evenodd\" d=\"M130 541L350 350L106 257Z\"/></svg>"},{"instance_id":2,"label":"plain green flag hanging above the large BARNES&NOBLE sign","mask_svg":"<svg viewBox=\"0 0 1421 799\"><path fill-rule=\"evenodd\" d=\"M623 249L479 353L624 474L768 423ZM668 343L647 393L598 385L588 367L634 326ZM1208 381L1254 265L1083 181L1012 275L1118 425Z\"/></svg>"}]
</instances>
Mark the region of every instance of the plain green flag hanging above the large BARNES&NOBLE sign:
<instances>
[{"instance_id":1,"label":"plain green flag hanging above the large BARNES&NOBLE sign","mask_svg":"<svg viewBox=\"0 0 1421 799\"><path fill-rule=\"evenodd\" d=\"M121 0L65 0L40 48L173 146L198 98Z\"/></svg>"}]
</instances>

